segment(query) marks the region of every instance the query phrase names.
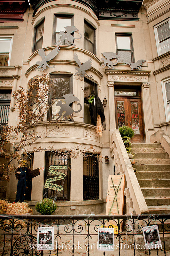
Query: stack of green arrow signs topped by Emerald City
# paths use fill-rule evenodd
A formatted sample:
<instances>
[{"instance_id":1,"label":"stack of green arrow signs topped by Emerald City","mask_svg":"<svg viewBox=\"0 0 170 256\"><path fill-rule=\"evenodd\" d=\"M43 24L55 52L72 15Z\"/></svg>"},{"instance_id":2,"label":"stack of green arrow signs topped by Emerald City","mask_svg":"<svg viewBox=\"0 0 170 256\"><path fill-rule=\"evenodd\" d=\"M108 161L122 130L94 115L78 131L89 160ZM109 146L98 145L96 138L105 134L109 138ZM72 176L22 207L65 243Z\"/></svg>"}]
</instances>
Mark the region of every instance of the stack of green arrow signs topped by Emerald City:
<instances>
[{"instance_id":1,"label":"stack of green arrow signs topped by Emerald City","mask_svg":"<svg viewBox=\"0 0 170 256\"><path fill-rule=\"evenodd\" d=\"M51 183L51 182L56 181L56 180L63 180L64 177L66 176L66 174L62 173L62 172L58 172L57 170L66 170L66 169L67 169L67 165L50 165L49 173L58 175L58 177L53 177L53 178L49 178L49 179L45 180L44 188L62 191L63 190L62 186L60 186L58 184Z\"/></svg>"}]
</instances>

